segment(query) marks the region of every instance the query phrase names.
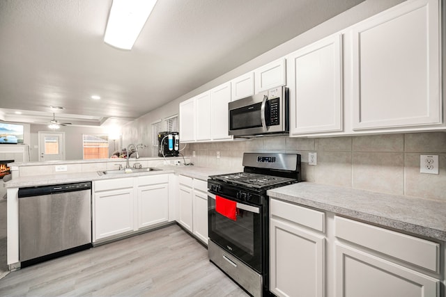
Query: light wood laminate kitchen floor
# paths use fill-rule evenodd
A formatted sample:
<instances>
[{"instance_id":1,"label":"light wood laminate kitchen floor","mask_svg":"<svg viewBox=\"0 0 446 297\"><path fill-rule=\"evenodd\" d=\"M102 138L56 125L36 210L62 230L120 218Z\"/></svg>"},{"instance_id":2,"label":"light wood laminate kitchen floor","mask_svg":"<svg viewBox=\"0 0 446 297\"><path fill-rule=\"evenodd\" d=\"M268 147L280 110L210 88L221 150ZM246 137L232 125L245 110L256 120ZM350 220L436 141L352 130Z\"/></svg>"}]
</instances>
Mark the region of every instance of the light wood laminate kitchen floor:
<instances>
[{"instance_id":1,"label":"light wood laminate kitchen floor","mask_svg":"<svg viewBox=\"0 0 446 297\"><path fill-rule=\"evenodd\" d=\"M178 225L13 271L0 296L248 296Z\"/></svg>"}]
</instances>

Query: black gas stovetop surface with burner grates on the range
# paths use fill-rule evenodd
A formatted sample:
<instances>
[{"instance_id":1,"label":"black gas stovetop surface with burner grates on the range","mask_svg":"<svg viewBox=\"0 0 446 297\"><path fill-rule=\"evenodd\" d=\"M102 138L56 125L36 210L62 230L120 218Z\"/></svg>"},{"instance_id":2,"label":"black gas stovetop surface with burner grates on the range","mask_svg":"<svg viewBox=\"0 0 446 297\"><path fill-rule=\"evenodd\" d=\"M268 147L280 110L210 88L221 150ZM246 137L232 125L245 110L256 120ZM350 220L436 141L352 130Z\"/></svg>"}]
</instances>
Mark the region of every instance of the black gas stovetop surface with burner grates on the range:
<instances>
[{"instance_id":1,"label":"black gas stovetop surface with burner grates on the range","mask_svg":"<svg viewBox=\"0 0 446 297\"><path fill-rule=\"evenodd\" d=\"M271 188L282 184L296 182L297 179L287 177L277 177L273 175L262 175L252 172L236 172L226 175L214 175L211 179L220 180L229 184L249 186L253 188Z\"/></svg>"}]
</instances>

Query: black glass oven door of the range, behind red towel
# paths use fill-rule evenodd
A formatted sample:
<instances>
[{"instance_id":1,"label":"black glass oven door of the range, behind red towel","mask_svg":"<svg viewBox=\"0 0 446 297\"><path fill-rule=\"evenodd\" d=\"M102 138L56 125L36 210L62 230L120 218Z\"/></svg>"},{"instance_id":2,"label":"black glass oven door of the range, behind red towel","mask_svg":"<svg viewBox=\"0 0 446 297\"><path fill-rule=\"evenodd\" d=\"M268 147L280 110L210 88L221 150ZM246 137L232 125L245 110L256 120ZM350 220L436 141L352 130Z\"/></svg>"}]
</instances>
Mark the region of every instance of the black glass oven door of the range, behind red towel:
<instances>
[{"instance_id":1,"label":"black glass oven door of the range, behind red towel","mask_svg":"<svg viewBox=\"0 0 446 297\"><path fill-rule=\"evenodd\" d=\"M220 195L220 194L219 194ZM221 248L238 257L255 271L262 273L262 207L237 201L236 220L215 211L215 194L208 192L209 238Z\"/></svg>"}]
</instances>

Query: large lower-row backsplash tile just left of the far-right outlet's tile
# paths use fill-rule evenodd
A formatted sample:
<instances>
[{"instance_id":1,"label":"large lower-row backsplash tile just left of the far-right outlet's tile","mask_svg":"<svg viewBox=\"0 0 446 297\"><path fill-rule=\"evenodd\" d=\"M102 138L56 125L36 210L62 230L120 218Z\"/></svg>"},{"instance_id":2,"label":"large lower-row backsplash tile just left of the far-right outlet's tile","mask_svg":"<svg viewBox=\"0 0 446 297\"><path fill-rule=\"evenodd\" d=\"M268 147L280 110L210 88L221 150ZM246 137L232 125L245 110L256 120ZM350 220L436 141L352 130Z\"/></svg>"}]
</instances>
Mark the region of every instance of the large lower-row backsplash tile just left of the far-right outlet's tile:
<instances>
[{"instance_id":1,"label":"large lower-row backsplash tile just left of the far-right outlet's tile","mask_svg":"<svg viewBox=\"0 0 446 297\"><path fill-rule=\"evenodd\" d=\"M404 154L353 152L353 188L403 195Z\"/></svg>"}]
</instances>

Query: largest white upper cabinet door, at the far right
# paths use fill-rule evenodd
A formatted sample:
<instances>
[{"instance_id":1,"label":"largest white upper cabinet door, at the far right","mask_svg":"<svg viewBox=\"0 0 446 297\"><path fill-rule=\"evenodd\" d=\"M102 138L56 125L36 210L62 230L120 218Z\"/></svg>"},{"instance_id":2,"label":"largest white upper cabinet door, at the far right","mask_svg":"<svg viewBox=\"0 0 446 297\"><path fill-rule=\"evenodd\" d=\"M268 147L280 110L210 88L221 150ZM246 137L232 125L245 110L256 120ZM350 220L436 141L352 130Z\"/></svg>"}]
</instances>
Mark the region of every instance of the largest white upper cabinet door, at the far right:
<instances>
[{"instance_id":1,"label":"largest white upper cabinet door, at the far right","mask_svg":"<svg viewBox=\"0 0 446 297\"><path fill-rule=\"evenodd\" d=\"M353 129L442 122L439 15L408 1L353 27Z\"/></svg>"}]
</instances>

